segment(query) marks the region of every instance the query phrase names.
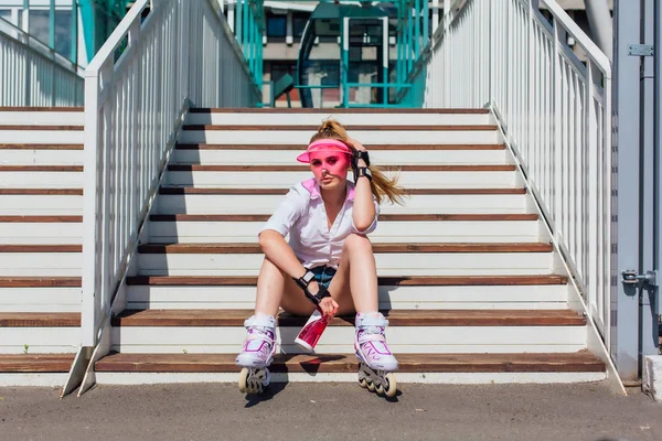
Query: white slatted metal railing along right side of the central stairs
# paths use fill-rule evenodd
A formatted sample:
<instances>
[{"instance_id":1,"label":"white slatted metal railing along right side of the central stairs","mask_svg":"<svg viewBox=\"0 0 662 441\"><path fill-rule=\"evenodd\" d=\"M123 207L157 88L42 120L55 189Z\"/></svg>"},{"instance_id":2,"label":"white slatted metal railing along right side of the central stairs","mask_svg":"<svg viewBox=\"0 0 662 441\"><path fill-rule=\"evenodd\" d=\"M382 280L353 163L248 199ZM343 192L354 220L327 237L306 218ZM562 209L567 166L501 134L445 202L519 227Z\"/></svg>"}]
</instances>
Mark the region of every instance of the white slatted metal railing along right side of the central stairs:
<instances>
[{"instance_id":1,"label":"white slatted metal railing along right side of the central stairs","mask_svg":"<svg viewBox=\"0 0 662 441\"><path fill-rule=\"evenodd\" d=\"M493 109L609 347L611 65L554 0L540 3L551 22L536 0L456 1L416 82L424 107Z\"/></svg>"}]
</instances>

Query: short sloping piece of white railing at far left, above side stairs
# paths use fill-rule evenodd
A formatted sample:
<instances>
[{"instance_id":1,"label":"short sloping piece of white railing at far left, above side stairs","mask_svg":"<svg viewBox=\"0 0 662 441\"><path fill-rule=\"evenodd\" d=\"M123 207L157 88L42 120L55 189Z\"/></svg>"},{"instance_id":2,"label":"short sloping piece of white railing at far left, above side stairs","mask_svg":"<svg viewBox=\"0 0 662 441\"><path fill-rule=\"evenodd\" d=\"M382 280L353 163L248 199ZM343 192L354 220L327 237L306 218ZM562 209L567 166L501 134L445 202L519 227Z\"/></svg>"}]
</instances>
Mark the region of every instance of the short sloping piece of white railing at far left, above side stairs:
<instances>
[{"instance_id":1,"label":"short sloping piece of white railing at far left, above side stairs","mask_svg":"<svg viewBox=\"0 0 662 441\"><path fill-rule=\"evenodd\" d=\"M0 106L83 105L83 69L0 19Z\"/></svg>"}]
</instances>

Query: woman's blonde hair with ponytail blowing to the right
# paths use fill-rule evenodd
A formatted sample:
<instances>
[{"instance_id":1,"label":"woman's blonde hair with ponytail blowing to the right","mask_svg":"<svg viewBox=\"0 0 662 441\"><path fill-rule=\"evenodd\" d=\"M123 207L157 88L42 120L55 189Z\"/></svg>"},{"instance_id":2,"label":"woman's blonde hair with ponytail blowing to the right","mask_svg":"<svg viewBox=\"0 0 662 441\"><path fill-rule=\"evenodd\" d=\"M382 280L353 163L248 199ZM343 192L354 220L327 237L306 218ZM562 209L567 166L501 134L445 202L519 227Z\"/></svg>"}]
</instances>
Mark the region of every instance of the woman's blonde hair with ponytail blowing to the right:
<instances>
[{"instance_id":1,"label":"woman's blonde hair with ponytail blowing to the right","mask_svg":"<svg viewBox=\"0 0 662 441\"><path fill-rule=\"evenodd\" d=\"M340 122L334 119L328 119L319 127L318 132L310 138L310 142L314 142L319 139L335 139L344 142L352 152L356 151L350 142L350 137ZM404 205L403 196L406 195L405 189L397 185L397 176L387 178L378 166L371 165L370 171L372 172L372 181L370 187L372 193L375 195L377 203L382 203L384 197L387 197L394 204Z\"/></svg>"}]
</instances>

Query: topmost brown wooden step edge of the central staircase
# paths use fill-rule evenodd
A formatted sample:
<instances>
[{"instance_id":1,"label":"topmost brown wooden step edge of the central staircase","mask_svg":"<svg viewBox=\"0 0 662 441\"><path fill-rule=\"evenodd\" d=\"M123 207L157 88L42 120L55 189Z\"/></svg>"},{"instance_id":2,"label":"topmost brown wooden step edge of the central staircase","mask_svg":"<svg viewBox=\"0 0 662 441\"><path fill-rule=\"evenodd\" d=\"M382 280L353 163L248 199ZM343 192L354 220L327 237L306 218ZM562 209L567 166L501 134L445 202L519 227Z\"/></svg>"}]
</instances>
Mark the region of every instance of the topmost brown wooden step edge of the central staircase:
<instances>
[{"instance_id":1,"label":"topmost brown wooden step edge of the central staircase","mask_svg":"<svg viewBox=\"0 0 662 441\"><path fill-rule=\"evenodd\" d=\"M457 115L457 114L473 114L487 115L489 109L476 108L286 108L286 107L225 107L225 108L209 108L196 107L189 110L191 114L439 114L439 115Z\"/></svg>"}]
</instances>

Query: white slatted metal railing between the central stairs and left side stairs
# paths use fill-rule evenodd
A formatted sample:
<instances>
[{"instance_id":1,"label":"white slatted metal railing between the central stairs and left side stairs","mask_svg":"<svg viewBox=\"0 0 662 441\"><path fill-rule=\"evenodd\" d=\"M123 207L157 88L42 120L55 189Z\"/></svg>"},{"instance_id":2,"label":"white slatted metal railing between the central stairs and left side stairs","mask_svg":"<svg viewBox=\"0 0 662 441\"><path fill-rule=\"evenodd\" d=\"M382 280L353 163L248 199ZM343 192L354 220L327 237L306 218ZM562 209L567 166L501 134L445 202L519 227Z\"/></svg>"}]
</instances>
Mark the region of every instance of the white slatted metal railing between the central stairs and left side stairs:
<instances>
[{"instance_id":1,"label":"white slatted metal railing between the central stairs and left side stairs","mask_svg":"<svg viewBox=\"0 0 662 441\"><path fill-rule=\"evenodd\" d=\"M260 100L217 1L153 1L142 18L148 3L85 72L83 346L110 313L188 107Z\"/></svg>"}]
</instances>

